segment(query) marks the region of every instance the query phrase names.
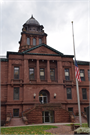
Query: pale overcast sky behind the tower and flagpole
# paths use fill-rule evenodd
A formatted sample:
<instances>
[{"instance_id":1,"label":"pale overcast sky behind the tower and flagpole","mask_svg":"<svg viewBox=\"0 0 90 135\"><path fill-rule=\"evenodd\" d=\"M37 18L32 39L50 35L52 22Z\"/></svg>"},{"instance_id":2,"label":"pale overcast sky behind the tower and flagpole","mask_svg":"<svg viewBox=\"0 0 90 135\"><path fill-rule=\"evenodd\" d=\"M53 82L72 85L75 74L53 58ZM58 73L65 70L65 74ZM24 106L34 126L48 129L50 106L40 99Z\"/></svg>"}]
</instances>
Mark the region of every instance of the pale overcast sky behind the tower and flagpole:
<instances>
[{"instance_id":1,"label":"pale overcast sky behind the tower and flagpole","mask_svg":"<svg viewBox=\"0 0 90 135\"><path fill-rule=\"evenodd\" d=\"M90 61L90 0L0 0L0 10L0 55L18 51L22 25L33 14L47 45L67 55L73 55L73 21L76 59Z\"/></svg>"}]
</instances>

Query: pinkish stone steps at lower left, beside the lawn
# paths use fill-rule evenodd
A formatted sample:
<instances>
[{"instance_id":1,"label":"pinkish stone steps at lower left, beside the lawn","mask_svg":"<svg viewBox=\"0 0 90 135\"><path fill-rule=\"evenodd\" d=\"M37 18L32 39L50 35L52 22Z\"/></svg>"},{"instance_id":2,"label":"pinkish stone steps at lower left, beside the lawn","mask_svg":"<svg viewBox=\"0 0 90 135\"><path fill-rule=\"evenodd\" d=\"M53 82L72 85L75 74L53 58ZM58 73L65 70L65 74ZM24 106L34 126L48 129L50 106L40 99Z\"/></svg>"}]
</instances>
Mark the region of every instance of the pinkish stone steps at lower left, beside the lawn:
<instances>
[{"instance_id":1,"label":"pinkish stone steps at lower left, beside the lawn","mask_svg":"<svg viewBox=\"0 0 90 135\"><path fill-rule=\"evenodd\" d=\"M22 118L12 118L8 126L23 126L25 125Z\"/></svg>"}]
</instances>

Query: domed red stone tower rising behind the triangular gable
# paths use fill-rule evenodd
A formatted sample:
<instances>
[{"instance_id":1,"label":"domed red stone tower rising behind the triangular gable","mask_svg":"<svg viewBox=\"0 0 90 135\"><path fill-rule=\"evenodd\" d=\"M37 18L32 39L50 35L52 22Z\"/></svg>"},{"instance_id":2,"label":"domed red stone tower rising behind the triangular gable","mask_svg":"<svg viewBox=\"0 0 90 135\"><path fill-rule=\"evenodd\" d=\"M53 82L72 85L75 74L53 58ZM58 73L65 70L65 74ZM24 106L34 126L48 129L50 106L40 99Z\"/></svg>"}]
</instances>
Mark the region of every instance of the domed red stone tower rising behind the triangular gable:
<instances>
[{"instance_id":1,"label":"domed red stone tower rising behind the triangular gable","mask_svg":"<svg viewBox=\"0 0 90 135\"><path fill-rule=\"evenodd\" d=\"M47 34L43 29L43 25L40 25L32 15L31 18L23 25L21 39L19 41L19 52L23 52L42 43L47 44Z\"/></svg>"}]
</instances>

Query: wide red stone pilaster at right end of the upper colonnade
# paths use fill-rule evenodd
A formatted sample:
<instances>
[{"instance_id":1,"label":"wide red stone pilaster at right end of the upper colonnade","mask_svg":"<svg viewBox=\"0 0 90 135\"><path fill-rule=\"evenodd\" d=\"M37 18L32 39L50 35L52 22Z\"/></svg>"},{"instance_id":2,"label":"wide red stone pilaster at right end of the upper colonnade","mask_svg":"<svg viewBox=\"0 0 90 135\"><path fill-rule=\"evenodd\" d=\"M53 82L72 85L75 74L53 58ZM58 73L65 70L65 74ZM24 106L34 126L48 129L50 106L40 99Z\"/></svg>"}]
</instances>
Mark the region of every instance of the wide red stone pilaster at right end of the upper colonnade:
<instances>
[{"instance_id":1,"label":"wide red stone pilaster at right end of the upper colonnade","mask_svg":"<svg viewBox=\"0 0 90 135\"><path fill-rule=\"evenodd\" d=\"M57 73L58 73L58 83L63 83L63 74L62 74L62 62L57 61Z\"/></svg>"}]
</instances>

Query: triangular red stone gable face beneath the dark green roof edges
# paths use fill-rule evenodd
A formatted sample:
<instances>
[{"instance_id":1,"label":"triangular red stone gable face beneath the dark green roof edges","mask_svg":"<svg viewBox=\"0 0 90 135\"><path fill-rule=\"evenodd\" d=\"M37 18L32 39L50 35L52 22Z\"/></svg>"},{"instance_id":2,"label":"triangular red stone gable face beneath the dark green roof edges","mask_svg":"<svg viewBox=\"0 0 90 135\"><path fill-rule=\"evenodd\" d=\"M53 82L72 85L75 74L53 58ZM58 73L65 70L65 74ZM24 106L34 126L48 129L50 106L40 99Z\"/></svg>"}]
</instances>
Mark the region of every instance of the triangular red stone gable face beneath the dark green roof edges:
<instances>
[{"instance_id":1,"label":"triangular red stone gable face beneath the dark green roof edges","mask_svg":"<svg viewBox=\"0 0 90 135\"><path fill-rule=\"evenodd\" d=\"M48 48L46 48L46 47L44 47L44 46L41 46L41 47L36 48L36 49L34 49L34 50L31 50L31 51L29 51L28 53L57 54L57 53L55 53L54 51L52 51L52 50L50 50L50 49L48 49Z\"/></svg>"}]
</instances>

